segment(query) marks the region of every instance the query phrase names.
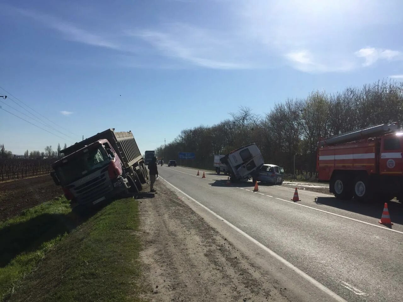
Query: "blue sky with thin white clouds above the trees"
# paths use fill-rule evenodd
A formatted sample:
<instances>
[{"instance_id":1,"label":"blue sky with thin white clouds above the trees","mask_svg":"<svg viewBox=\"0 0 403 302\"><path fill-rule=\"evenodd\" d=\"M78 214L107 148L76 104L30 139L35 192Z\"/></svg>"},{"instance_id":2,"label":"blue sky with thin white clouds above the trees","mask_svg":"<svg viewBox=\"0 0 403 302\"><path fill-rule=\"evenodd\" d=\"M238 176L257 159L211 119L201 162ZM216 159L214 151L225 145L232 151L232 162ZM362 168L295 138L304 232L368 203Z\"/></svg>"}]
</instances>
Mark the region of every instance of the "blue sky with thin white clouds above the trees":
<instances>
[{"instance_id":1,"label":"blue sky with thin white clouds above the trees","mask_svg":"<svg viewBox=\"0 0 403 302\"><path fill-rule=\"evenodd\" d=\"M2 108L61 138L0 110L0 143L22 154L116 128L144 152L240 105L264 114L316 89L401 81L402 11L399 0L2 0L0 86L69 137L10 97Z\"/></svg>"}]
</instances>

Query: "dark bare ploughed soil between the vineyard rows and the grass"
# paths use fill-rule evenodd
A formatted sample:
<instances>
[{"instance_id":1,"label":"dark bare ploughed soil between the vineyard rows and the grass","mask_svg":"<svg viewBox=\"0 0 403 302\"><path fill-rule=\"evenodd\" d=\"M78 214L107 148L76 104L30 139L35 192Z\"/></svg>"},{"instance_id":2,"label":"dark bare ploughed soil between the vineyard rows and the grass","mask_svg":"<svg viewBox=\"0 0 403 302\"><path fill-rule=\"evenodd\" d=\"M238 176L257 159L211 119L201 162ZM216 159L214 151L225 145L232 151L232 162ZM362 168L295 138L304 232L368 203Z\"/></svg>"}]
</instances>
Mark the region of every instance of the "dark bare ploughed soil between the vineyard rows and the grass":
<instances>
[{"instance_id":1,"label":"dark bare ploughed soil between the vineyard rows and the grass","mask_svg":"<svg viewBox=\"0 0 403 302\"><path fill-rule=\"evenodd\" d=\"M0 221L62 194L49 175L0 182Z\"/></svg>"}]
</instances>

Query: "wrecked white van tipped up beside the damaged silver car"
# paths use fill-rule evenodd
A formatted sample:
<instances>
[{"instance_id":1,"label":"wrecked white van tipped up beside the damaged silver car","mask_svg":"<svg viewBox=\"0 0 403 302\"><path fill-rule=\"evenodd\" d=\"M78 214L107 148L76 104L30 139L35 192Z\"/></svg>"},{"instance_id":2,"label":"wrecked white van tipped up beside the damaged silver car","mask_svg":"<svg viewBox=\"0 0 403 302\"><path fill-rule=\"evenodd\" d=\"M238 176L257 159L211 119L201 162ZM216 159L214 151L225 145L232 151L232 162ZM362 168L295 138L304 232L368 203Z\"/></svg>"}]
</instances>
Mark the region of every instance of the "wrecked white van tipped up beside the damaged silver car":
<instances>
[{"instance_id":1,"label":"wrecked white van tipped up beside the damaged silver car","mask_svg":"<svg viewBox=\"0 0 403 302\"><path fill-rule=\"evenodd\" d=\"M264 164L263 156L256 144L238 148L220 159L231 174L231 182L239 180L256 180Z\"/></svg>"}]
</instances>

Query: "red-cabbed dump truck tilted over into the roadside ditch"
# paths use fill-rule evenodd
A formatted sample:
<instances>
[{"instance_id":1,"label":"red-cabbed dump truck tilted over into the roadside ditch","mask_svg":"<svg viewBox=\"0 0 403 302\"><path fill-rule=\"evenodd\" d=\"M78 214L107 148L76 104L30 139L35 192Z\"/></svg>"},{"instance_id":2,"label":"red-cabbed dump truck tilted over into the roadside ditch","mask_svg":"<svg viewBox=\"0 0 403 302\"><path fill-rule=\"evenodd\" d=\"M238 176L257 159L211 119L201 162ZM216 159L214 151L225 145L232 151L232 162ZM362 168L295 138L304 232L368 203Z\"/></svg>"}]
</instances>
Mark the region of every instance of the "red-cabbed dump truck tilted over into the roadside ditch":
<instances>
[{"instance_id":1,"label":"red-cabbed dump truck tilted over into the roadside ditch","mask_svg":"<svg viewBox=\"0 0 403 302\"><path fill-rule=\"evenodd\" d=\"M74 205L95 205L120 193L137 193L148 172L129 132L108 129L61 150L52 178Z\"/></svg>"}]
</instances>

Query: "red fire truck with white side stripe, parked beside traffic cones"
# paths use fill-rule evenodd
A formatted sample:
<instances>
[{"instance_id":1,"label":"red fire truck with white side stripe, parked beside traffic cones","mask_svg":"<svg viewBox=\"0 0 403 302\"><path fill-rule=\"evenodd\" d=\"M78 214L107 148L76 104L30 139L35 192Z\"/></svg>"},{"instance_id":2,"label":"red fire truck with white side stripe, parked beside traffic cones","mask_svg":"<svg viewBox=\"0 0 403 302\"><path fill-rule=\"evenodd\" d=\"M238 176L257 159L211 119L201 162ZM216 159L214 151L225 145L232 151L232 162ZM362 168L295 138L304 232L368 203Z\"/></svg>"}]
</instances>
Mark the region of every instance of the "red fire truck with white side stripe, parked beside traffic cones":
<instances>
[{"instance_id":1,"label":"red fire truck with white side stripe, parked beside traffic cones","mask_svg":"<svg viewBox=\"0 0 403 302\"><path fill-rule=\"evenodd\" d=\"M383 124L321 139L319 181L339 199L403 198L403 132Z\"/></svg>"}]
</instances>

